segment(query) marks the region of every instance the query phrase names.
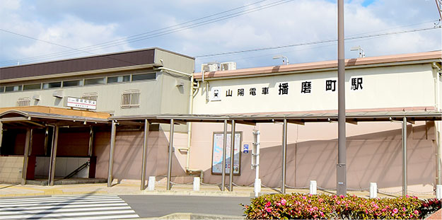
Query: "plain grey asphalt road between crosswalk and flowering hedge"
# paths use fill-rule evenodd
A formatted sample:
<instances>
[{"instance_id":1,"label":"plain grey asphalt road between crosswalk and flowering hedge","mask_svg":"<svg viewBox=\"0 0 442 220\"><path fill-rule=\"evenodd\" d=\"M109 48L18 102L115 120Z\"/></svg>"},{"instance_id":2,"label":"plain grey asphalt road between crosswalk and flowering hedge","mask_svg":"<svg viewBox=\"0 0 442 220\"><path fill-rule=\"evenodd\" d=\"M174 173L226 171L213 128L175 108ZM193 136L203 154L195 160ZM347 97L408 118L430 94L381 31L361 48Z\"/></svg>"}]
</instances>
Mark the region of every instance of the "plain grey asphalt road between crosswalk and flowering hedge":
<instances>
[{"instance_id":1,"label":"plain grey asphalt road between crosswalk and flowering hedge","mask_svg":"<svg viewBox=\"0 0 442 220\"><path fill-rule=\"evenodd\" d=\"M175 195L120 195L140 217L159 217L176 212L242 216L249 197L199 197Z\"/></svg>"}]
</instances>

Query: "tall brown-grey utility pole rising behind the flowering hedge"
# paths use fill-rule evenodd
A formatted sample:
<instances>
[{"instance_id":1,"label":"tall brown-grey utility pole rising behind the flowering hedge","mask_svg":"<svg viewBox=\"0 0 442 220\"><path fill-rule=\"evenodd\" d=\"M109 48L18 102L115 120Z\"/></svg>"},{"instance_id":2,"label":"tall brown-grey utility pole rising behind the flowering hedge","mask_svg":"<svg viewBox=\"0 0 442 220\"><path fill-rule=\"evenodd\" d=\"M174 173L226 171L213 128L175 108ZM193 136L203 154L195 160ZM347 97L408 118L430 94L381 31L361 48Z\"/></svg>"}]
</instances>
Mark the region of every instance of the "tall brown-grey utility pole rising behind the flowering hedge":
<instances>
[{"instance_id":1,"label":"tall brown-grey utility pole rising behind the flowering hedge","mask_svg":"<svg viewBox=\"0 0 442 220\"><path fill-rule=\"evenodd\" d=\"M344 0L337 1L337 195L347 195L347 157L345 134L345 57L344 57Z\"/></svg>"}]
</instances>

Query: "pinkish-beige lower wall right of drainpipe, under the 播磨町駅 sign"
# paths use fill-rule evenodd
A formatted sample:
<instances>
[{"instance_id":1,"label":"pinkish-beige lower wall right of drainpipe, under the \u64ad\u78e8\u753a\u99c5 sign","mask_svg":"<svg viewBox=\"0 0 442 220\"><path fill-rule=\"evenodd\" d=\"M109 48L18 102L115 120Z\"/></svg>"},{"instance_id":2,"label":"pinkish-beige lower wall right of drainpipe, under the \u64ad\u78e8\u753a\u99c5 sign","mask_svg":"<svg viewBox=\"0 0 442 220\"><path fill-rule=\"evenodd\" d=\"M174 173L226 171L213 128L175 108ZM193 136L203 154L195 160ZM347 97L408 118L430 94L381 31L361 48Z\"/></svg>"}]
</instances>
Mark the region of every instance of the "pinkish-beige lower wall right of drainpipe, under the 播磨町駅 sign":
<instances>
[{"instance_id":1,"label":"pinkish-beige lower wall right of drainpipe, under the \u64ad\u78e8\u753a\u99c5 sign","mask_svg":"<svg viewBox=\"0 0 442 220\"><path fill-rule=\"evenodd\" d=\"M194 123L190 168L202 169L205 183L221 183L220 175L211 175L212 134L222 132L223 125ZM350 188L366 188L370 182L380 188L400 187L402 170L401 124L395 122L361 122L347 124L347 180ZM243 143L252 146L252 129L261 132L260 178L262 184L279 186L281 178L281 127L260 124L237 125ZM230 129L230 127L229 127ZM308 187L317 180L319 187L336 187L337 124L315 123L289 125L286 184ZM408 181L420 190L432 190L436 171L434 124L419 122L408 125ZM250 154L241 155L241 175L233 181L250 185L255 170L250 168ZM418 190L419 190L418 189Z\"/></svg>"}]
</instances>

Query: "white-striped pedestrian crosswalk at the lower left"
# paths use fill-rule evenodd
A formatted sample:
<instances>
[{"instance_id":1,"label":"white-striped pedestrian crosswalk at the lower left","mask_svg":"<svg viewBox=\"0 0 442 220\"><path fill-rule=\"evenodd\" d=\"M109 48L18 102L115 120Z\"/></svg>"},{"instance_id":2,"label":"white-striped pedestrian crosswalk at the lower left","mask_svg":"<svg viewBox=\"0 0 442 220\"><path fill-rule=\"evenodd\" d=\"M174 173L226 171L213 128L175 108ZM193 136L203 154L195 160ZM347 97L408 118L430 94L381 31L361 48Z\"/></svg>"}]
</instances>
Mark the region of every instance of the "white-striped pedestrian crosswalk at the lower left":
<instances>
[{"instance_id":1,"label":"white-striped pedestrian crosswalk at the lower left","mask_svg":"<svg viewBox=\"0 0 442 220\"><path fill-rule=\"evenodd\" d=\"M129 219L138 214L117 195L0 199L0 219Z\"/></svg>"}]
</instances>

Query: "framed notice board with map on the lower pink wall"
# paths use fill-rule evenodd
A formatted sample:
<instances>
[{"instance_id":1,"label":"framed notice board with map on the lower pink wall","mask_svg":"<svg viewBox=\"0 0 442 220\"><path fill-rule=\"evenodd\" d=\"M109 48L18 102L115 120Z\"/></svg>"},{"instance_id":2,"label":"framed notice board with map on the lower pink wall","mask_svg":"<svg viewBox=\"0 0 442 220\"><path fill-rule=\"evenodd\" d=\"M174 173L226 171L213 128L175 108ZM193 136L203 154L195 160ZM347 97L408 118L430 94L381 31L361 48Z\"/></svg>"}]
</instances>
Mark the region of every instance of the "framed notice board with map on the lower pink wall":
<instances>
[{"instance_id":1,"label":"framed notice board with map on the lower pink wall","mask_svg":"<svg viewBox=\"0 0 442 220\"><path fill-rule=\"evenodd\" d=\"M226 174L230 174L231 160L231 134L227 134L226 143ZM235 148L233 149L233 175L240 175L241 170L241 142L243 141L243 132L235 132ZM214 132L211 157L211 173L222 174L223 170L223 132Z\"/></svg>"}]
</instances>

